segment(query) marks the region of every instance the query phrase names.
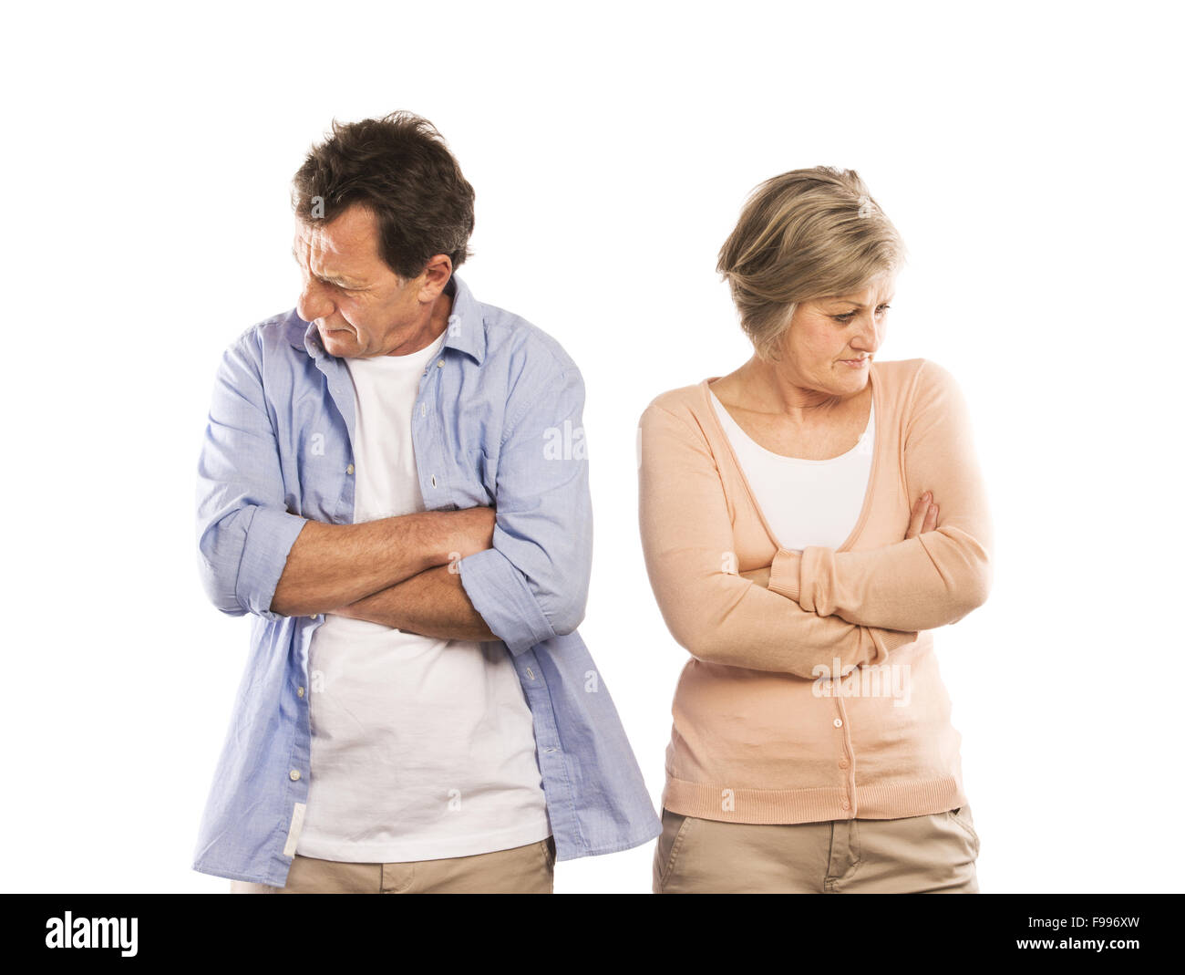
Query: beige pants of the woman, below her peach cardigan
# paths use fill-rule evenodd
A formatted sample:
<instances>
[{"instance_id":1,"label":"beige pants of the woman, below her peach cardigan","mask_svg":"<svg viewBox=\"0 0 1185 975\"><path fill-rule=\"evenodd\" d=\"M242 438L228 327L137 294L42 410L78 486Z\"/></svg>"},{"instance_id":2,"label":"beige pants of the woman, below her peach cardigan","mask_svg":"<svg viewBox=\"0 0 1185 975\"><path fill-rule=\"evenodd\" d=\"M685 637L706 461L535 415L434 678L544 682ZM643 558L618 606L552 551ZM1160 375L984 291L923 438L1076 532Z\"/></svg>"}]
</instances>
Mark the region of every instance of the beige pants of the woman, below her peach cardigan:
<instances>
[{"instance_id":1,"label":"beige pants of the woman, below her peach cardigan","mask_svg":"<svg viewBox=\"0 0 1185 975\"><path fill-rule=\"evenodd\" d=\"M662 810L654 893L979 893L963 805L902 820L750 826Z\"/></svg>"}]
</instances>

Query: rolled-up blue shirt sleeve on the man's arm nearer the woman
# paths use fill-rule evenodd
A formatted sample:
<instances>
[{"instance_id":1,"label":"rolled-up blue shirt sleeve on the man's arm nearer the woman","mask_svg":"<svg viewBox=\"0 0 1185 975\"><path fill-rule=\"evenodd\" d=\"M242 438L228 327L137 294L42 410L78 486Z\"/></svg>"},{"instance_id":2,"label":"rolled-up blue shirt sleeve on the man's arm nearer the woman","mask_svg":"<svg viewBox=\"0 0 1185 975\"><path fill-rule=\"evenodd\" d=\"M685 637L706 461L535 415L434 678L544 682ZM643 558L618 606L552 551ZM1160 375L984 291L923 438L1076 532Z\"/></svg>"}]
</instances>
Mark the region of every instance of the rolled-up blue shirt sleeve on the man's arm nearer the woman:
<instances>
[{"instance_id":1,"label":"rolled-up blue shirt sleeve on the man's arm nearer the woman","mask_svg":"<svg viewBox=\"0 0 1185 975\"><path fill-rule=\"evenodd\" d=\"M572 632L592 568L592 505L575 365L515 389L497 464L493 547L462 559L461 585L512 654Z\"/></svg>"}]
</instances>

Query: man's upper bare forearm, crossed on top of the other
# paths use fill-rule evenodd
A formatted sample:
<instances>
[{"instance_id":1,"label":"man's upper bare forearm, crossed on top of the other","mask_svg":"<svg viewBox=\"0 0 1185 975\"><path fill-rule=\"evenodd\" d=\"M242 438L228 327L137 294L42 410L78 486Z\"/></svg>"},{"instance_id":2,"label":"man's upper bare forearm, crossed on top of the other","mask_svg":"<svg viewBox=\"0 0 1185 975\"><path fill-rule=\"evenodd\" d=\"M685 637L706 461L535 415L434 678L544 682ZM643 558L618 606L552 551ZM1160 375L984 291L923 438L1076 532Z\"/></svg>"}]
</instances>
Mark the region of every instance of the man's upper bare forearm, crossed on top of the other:
<instances>
[{"instance_id":1,"label":"man's upper bare forearm, crossed on top of the other","mask_svg":"<svg viewBox=\"0 0 1185 975\"><path fill-rule=\"evenodd\" d=\"M423 511L360 524L308 522L276 585L271 610L312 616L357 603L488 547L492 509Z\"/></svg>"}]
</instances>

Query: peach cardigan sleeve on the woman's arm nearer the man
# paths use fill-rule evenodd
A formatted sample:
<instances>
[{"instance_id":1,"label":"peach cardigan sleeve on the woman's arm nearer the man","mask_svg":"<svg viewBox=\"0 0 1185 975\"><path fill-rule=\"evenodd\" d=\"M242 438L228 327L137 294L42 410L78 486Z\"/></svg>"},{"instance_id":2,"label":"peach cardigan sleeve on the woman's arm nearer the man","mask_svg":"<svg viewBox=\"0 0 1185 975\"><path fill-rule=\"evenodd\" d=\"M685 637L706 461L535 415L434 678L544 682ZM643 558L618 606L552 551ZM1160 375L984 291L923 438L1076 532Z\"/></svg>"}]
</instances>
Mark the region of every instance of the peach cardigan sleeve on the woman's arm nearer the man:
<instances>
[{"instance_id":1,"label":"peach cardigan sleeve on the woman's arm nearer the man","mask_svg":"<svg viewBox=\"0 0 1185 975\"><path fill-rule=\"evenodd\" d=\"M639 423L646 571L674 639L693 657L813 678L884 663L917 632L809 612L736 572L732 524L703 431L652 403Z\"/></svg>"}]
</instances>

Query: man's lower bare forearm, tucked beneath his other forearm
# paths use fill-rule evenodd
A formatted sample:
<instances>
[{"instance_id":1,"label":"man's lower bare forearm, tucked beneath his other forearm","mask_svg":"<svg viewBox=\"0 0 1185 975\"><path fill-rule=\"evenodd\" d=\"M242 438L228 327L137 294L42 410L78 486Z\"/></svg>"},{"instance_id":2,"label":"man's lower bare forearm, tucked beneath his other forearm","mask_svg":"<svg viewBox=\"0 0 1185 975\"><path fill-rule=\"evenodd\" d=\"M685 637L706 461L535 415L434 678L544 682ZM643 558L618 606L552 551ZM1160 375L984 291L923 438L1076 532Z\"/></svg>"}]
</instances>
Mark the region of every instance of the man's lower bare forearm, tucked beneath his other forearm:
<instances>
[{"instance_id":1,"label":"man's lower bare forearm, tucked beneath his other forearm","mask_svg":"<svg viewBox=\"0 0 1185 975\"><path fill-rule=\"evenodd\" d=\"M460 573L437 566L332 611L440 639L498 639L473 608Z\"/></svg>"}]
</instances>

